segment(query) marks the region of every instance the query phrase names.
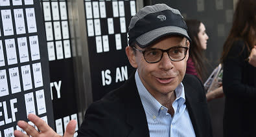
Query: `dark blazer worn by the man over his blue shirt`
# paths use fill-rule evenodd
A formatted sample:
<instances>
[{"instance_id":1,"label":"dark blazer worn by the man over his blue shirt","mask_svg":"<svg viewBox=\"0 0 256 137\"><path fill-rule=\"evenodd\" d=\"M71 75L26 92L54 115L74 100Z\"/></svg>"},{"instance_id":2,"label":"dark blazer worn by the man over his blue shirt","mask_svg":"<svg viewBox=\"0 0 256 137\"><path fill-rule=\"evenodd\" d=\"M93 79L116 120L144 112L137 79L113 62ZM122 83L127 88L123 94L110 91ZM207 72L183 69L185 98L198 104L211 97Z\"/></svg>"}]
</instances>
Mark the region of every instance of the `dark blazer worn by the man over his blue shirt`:
<instances>
[{"instance_id":1,"label":"dark blazer worn by the man over his blue shirt","mask_svg":"<svg viewBox=\"0 0 256 137\"><path fill-rule=\"evenodd\" d=\"M182 83L185 89L185 104L196 136L212 136L211 120L200 79L185 74ZM82 136L149 137L146 114L134 74L119 89L90 105L78 130L78 137Z\"/></svg>"}]
</instances>

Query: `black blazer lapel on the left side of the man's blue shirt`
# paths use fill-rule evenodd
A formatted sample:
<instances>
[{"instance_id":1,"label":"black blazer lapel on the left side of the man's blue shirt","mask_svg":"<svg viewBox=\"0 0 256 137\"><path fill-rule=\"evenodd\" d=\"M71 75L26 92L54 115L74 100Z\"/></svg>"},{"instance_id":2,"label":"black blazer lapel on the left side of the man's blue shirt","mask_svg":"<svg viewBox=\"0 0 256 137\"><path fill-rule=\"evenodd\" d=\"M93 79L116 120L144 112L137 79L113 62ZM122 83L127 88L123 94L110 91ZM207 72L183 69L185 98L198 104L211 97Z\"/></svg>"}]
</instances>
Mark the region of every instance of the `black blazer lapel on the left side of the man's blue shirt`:
<instances>
[{"instance_id":1,"label":"black blazer lapel on the left side of the man's blue shirt","mask_svg":"<svg viewBox=\"0 0 256 137\"><path fill-rule=\"evenodd\" d=\"M132 74L132 77L129 78L128 81L126 81L122 90L124 90L122 100L124 100L124 107L126 110L126 122L131 127L128 136L149 137L146 114L135 84L135 73Z\"/></svg>"}]
</instances>

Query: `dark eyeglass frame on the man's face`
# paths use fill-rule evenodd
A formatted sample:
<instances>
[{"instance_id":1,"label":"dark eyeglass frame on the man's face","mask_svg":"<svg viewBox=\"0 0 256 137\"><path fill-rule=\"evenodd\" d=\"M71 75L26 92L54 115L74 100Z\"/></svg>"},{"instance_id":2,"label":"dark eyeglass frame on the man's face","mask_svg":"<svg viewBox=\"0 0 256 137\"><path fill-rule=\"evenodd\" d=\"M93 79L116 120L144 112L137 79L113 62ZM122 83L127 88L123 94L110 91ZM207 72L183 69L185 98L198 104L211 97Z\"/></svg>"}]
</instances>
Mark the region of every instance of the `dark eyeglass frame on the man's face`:
<instances>
[{"instance_id":1,"label":"dark eyeglass frame on the man's face","mask_svg":"<svg viewBox=\"0 0 256 137\"><path fill-rule=\"evenodd\" d=\"M149 50L139 50L139 49L137 49L137 48L135 48L135 47L132 47L132 48L134 48L135 50L141 52L141 53L143 54L143 57L144 57L144 59L145 59L145 61L146 61L147 63L157 63L157 62L161 61L161 59L163 58L163 53L167 52L167 55L169 56L168 51L169 51L170 49L172 49L172 48L185 48L185 53L184 53L185 56L184 56L182 59L173 60L173 59L171 59L170 56L169 56L169 59L170 59L171 61L181 61L181 60L183 60L183 59L186 58L186 56L187 56L187 50L189 50L189 47L170 47L170 48L168 48L168 49L166 49L166 50L163 50L163 49L160 49L160 48L150 48L150 50L161 50L162 54L161 54L161 58L159 59L159 61L149 62L149 61L147 61L146 58L145 58L145 52L146 52L146 51L149 51Z\"/></svg>"}]
</instances>

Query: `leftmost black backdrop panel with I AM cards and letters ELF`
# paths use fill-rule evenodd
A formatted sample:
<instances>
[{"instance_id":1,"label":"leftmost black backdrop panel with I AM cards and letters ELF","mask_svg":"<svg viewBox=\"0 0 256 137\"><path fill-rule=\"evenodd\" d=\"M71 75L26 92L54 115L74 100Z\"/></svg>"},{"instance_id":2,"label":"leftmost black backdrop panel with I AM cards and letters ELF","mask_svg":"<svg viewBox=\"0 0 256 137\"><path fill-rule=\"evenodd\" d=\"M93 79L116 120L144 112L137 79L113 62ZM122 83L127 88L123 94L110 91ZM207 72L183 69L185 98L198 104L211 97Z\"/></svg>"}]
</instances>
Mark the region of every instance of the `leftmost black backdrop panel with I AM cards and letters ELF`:
<instances>
[{"instance_id":1,"label":"leftmost black backdrop panel with I AM cards and letters ELF","mask_svg":"<svg viewBox=\"0 0 256 137\"><path fill-rule=\"evenodd\" d=\"M54 128L40 2L1 0L0 12L0 136L14 136L30 113Z\"/></svg>"}]
</instances>

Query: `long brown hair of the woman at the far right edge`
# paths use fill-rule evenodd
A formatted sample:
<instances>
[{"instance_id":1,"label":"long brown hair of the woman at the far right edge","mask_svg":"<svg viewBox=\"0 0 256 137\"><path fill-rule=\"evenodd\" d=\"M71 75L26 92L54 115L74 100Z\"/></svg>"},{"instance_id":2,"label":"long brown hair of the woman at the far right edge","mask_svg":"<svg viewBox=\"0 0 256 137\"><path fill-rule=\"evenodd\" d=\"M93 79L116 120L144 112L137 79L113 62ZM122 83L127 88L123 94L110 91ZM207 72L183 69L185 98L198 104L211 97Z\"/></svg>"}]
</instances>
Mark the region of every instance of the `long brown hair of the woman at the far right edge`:
<instances>
[{"instance_id":1,"label":"long brown hair of the woman at the far right edge","mask_svg":"<svg viewBox=\"0 0 256 137\"><path fill-rule=\"evenodd\" d=\"M256 1L255 0L239 0L233 15L233 25L229 32L229 36L224 43L221 63L227 58L227 54L231 49L234 41L242 40L248 52L256 43Z\"/></svg>"}]
</instances>

